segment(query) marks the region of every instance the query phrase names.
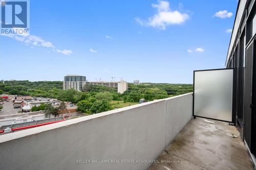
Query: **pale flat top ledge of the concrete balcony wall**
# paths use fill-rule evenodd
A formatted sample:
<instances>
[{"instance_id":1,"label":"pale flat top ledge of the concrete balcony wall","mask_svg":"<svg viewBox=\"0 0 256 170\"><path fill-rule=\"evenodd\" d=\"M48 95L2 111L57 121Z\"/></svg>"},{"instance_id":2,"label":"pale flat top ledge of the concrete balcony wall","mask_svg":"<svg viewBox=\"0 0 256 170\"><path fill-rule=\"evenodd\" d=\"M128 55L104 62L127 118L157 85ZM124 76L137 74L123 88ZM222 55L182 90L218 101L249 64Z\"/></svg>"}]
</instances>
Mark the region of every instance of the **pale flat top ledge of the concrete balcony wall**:
<instances>
[{"instance_id":1,"label":"pale flat top ledge of the concrete balcony wall","mask_svg":"<svg viewBox=\"0 0 256 170\"><path fill-rule=\"evenodd\" d=\"M45 125L45 126L40 126L40 127L36 127L36 128L31 128L31 129L26 129L26 130L22 130L22 131L17 131L17 132L13 132L13 133L0 135L0 143L18 139L18 138L22 138L22 137L26 137L26 136L30 136L30 135L34 135L34 134L38 134L41 132L45 132L45 131L49 131L49 130L53 130L53 129L57 129L57 128L68 127L70 125L78 124L78 123L81 123L81 122L84 122L84 121L87 121L90 119L108 116L108 115L116 114L116 113L121 113L126 110L136 109L136 108L147 106L147 105L152 105L152 104L156 104L156 103L160 103L160 102L164 102L164 101L173 100L173 99L185 96L185 95L191 95L192 93L193 92L185 93L185 94L173 96L170 98L159 99L159 100L155 100L155 101L151 101L151 102L145 102L142 104L128 106L128 107L124 107L124 108L120 108L120 109L115 109L115 110L110 110L110 111L101 112L101 113L97 113L97 114L92 114L89 116L78 117L78 118L66 120L63 122L55 123L55 124L50 124L50 125Z\"/></svg>"}]
</instances>

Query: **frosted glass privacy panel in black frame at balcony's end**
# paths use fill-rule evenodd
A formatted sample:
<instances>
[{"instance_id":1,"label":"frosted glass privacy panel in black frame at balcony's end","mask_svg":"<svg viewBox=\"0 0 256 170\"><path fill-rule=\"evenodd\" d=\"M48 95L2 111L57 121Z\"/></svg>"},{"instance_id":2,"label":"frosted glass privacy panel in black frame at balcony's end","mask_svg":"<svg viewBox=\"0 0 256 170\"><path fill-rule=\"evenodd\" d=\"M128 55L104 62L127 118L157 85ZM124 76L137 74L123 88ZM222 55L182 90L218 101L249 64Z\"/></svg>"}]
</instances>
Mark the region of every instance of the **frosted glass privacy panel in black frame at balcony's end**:
<instances>
[{"instance_id":1,"label":"frosted glass privacy panel in black frame at balcony's end","mask_svg":"<svg viewBox=\"0 0 256 170\"><path fill-rule=\"evenodd\" d=\"M232 121L232 69L195 71L194 85L194 115Z\"/></svg>"}]
</instances>

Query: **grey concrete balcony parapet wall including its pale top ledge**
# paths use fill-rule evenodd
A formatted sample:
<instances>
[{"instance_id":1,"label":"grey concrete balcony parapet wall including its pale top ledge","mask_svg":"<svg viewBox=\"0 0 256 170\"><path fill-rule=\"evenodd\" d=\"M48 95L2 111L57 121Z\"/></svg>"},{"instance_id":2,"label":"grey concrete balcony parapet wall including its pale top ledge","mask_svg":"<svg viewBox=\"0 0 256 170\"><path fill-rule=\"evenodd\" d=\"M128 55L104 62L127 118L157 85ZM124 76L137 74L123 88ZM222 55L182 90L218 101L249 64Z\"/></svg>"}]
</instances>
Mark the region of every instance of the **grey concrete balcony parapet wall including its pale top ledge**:
<instances>
[{"instance_id":1,"label":"grey concrete balcony parapet wall including its pale top ledge","mask_svg":"<svg viewBox=\"0 0 256 170\"><path fill-rule=\"evenodd\" d=\"M2 135L8 161L0 169L147 169L151 162L84 161L157 159L192 118L192 104L187 93Z\"/></svg>"}]
</instances>

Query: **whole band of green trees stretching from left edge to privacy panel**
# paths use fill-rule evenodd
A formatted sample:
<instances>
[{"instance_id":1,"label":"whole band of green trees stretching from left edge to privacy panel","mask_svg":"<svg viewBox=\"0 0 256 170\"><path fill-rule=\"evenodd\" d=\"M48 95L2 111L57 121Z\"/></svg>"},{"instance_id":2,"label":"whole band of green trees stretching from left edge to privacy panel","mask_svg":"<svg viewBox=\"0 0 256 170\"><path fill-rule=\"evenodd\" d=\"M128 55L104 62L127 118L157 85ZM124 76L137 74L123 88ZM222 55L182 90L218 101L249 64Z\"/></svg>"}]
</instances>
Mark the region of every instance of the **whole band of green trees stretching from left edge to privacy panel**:
<instances>
[{"instance_id":1,"label":"whole band of green trees stretching from left edge to privacy panel","mask_svg":"<svg viewBox=\"0 0 256 170\"><path fill-rule=\"evenodd\" d=\"M140 99L145 99L153 101L191 91L193 91L191 84L142 83L133 85L129 83L129 89L120 94L117 93L116 88L101 85L88 84L85 87L85 92L81 92L74 89L62 90L61 81L5 81L5 83L0 81L0 94L31 95L77 103L78 110L87 113L113 109L110 105L112 100L139 102Z\"/></svg>"}]
</instances>

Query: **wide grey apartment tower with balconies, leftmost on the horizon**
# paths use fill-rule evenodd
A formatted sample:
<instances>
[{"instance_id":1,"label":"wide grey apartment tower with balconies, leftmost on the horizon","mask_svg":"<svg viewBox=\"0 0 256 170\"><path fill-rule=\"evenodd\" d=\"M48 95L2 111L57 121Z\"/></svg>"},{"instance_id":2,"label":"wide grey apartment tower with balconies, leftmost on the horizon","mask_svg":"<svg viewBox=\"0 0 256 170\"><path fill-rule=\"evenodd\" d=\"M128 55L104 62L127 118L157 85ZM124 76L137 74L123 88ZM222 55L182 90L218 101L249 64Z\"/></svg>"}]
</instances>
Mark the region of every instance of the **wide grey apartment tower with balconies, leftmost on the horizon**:
<instances>
[{"instance_id":1,"label":"wide grey apartment tower with balconies, leftmost on the horizon","mask_svg":"<svg viewBox=\"0 0 256 170\"><path fill-rule=\"evenodd\" d=\"M63 90L75 89L78 91L83 91L86 85L86 77L78 75L67 75L64 77Z\"/></svg>"}]
</instances>

